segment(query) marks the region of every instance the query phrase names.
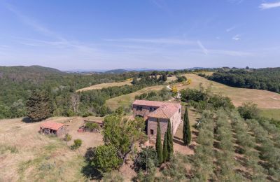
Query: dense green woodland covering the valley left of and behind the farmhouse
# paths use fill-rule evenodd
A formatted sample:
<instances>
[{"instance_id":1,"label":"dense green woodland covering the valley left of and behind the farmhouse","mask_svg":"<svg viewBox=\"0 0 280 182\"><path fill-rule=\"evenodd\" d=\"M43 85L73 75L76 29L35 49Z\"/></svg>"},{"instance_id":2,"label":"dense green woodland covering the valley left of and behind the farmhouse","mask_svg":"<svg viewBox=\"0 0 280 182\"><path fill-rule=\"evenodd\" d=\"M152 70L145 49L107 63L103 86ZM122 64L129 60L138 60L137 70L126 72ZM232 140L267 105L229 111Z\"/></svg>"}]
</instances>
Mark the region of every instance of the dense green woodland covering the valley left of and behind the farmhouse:
<instances>
[{"instance_id":1,"label":"dense green woodland covering the valley left of and behind the farmhouse","mask_svg":"<svg viewBox=\"0 0 280 182\"><path fill-rule=\"evenodd\" d=\"M104 106L106 99L163 84L167 76L187 71L79 74L42 66L1 66L0 119L27 116L27 101L34 90L44 91L43 94L50 97L52 116L105 116L111 113ZM129 78L133 78L132 85L76 92L83 87Z\"/></svg>"}]
</instances>

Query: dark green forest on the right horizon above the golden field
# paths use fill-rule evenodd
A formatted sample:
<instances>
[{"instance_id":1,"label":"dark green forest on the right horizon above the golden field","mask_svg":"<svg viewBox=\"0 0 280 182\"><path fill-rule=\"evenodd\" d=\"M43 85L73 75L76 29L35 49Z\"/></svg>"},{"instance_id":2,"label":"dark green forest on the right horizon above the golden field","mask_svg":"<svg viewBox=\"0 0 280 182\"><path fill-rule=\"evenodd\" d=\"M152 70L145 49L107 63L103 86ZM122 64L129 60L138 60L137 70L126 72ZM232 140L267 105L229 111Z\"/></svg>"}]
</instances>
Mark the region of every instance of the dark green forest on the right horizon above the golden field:
<instances>
[{"instance_id":1,"label":"dark green forest on the right horizon above the golden field","mask_svg":"<svg viewBox=\"0 0 280 182\"><path fill-rule=\"evenodd\" d=\"M212 76L206 76L203 73L200 76L232 87L280 92L280 68L220 69L214 72Z\"/></svg>"}]
</instances>

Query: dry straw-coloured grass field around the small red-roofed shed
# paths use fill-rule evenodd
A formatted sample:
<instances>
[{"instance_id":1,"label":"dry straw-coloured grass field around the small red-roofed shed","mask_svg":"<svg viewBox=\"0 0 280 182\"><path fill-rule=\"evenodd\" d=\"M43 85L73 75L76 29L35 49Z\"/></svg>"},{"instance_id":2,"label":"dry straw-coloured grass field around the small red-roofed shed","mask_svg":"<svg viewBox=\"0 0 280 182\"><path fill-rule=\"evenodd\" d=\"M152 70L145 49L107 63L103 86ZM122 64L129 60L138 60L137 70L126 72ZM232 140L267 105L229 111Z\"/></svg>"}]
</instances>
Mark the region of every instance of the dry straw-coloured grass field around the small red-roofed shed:
<instances>
[{"instance_id":1,"label":"dry straw-coloured grass field around the small red-roofed shed","mask_svg":"<svg viewBox=\"0 0 280 182\"><path fill-rule=\"evenodd\" d=\"M65 123L72 140L39 134L41 123L21 119L0 120L0 181L87 181L83 176L86 148L103 143L99 133L78 133L83 118L50 118ZM73 139L82 139L78 150L71 151Z\"/></svg>"}]
</instances>

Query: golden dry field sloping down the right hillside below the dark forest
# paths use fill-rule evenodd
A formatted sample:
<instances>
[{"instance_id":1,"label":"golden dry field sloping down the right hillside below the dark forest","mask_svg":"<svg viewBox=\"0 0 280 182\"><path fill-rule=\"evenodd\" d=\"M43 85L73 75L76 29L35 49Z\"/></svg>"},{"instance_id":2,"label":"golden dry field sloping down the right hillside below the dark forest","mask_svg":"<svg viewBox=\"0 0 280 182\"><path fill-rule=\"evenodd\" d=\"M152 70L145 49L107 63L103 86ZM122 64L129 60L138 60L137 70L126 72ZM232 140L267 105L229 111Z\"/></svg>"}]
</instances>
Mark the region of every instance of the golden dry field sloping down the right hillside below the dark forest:
<instances>
[{"instance_id":1,"label":"golden dry field sloping down the right hillside below the dark forest","mask_svg":"<svg viewBox=\"0 0 280 182\"><path fill-rule=\"evenodd\" d=\"M210 86L211 92L230 97L235 106L241 106L244 102L253 102L258 104L260 109L280 109L280 94L275 92L229 87L221 83L207 80L196 74L186 74L185 76L192 79L192 83L190 85L177 84L179 90L185 89L186 87L199 89L200 83L202 83L205 88Z\"/></svg>"}]
</instances>

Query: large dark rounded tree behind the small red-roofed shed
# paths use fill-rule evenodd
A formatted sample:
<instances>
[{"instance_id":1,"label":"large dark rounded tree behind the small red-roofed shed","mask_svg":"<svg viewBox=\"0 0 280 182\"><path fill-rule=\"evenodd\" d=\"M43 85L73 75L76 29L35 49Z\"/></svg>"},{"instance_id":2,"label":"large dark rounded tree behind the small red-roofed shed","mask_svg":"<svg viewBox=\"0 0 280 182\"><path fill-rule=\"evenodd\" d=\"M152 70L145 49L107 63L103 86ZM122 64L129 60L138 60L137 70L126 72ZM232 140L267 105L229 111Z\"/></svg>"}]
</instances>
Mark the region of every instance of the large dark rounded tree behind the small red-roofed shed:
<instances>
[{"instance_id":1,"label":"large dark rounded tree behind the small red-roofed shed","mask_svg":"<svg viewBox=\"0 0 280 182\"><path fill-rule=\"evenodd\" d=\"M45 90L34 90L27 101L27 116L34 121L52 116L53 107L50 96Z\"/></svg>"}]
</instances>

